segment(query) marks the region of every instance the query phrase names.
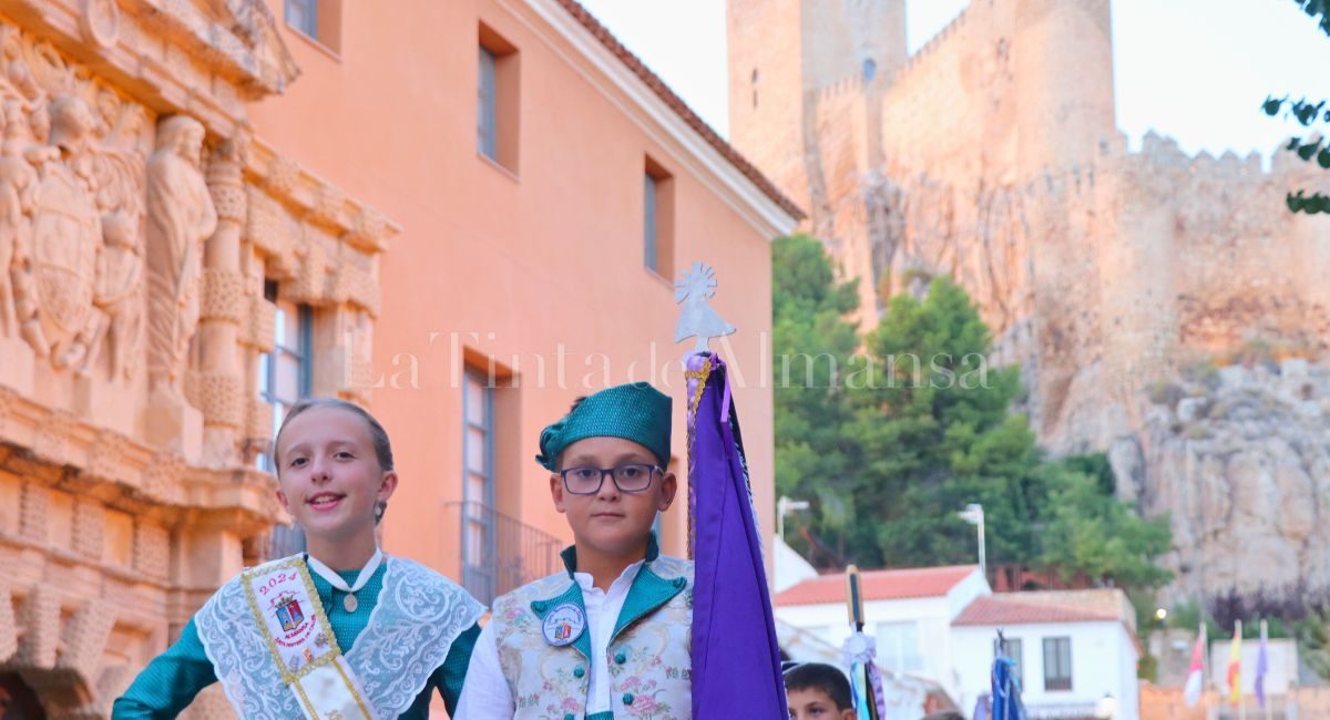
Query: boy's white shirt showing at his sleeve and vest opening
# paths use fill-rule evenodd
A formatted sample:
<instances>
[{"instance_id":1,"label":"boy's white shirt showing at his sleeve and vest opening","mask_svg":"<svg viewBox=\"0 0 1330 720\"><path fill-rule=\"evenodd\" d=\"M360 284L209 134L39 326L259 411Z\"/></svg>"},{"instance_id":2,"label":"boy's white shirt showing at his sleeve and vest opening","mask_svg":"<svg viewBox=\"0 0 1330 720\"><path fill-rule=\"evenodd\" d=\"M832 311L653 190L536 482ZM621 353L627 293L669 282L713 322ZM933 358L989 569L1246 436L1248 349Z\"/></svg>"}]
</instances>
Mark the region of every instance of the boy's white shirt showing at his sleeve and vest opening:
<instances>
[{"instance_id":1,"label":"boy's white shirt showing at his sleeve and vest opening","mask_svg":"<svg viewBox=\"0 0 1330 720\"><path fill-rule=\"evenodd\" d=\"M573 579L583 590L583 603L587 607L587 630L591 632L591 684L587 688L587 715L609 712L609 639L614 634L614 623L628 600L628 590L637 579L637 571L645 561L637 561L624 569L618 579L609 583L609 591L596 587L595 578L588 573L573 573ZM462 699L458 700L456 720L497 720L511 719L517 712L503 676L499 660L499 643L495 639L493 623L485 624L476 638L471 651L471 666L462 684Z\"/></svg>"}]
</instances>

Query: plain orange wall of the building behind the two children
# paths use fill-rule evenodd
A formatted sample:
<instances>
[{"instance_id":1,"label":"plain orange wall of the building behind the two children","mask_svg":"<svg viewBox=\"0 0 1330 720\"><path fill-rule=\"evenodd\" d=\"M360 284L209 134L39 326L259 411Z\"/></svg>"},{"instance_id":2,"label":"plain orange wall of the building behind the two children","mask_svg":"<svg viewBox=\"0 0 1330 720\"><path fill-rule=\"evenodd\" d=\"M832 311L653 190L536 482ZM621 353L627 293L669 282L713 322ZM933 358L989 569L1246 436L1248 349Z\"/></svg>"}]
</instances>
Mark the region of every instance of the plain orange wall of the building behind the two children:
<instances>
[{"instance_id":1,"label":"plain orange wall of the building behind the two children","mask_svg":"<svg viewBox=\"0 0 1330 720\"><path fill-rule=\"evenodd\" d=\"M282 3L270 5L281 17ZM608 356L612 384L660 387L670 364L673 389L662 389L676 399L674 453L685 457L677 359L692 341L673 344L672 282L642 263L648 155L673 175L674 268L713 264L713 306L739 328L720 349L746 385L737 391L738 409L759 522L770 531L770 361L758 365L769 348L767 243L775 232L759 231L713 190L716 179L696 171L696 155L660 125L629 117L633 101L598 88L596 72L577 60L581 50L543 39L545 21L528 4L388 7L343 3L339 57L283 27L303 74L283 97L251 108L258 137L403 227L382 259L383 311L374 329L374 376L396 387L374 389L372 409L392 437L402 477L386 549L458 575L456 521L446 522L443 510L462 499L459 341L480 363L495 356L521 384L496 392L501 511L571 537L549 502L548 473L532 458L541 428L576 396L604 387L604 360L592 357L588 367L592 353ZM480 23L520 52L516 173L476 150ZM654 376L646 369L652 359ZM666 553L684 553L685 502L681 493L665 523Z\"/></svg>"}]
</instances>

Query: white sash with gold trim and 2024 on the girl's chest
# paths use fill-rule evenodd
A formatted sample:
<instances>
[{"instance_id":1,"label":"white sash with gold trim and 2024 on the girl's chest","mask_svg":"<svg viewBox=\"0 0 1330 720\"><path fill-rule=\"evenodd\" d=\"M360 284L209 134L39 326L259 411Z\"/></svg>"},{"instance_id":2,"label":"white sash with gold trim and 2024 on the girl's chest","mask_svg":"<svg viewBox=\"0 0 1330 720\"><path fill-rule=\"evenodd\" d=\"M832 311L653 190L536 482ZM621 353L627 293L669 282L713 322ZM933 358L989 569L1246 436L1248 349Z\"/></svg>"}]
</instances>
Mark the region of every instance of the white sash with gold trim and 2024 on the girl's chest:
<instances>
[{"instance_id":1,"label":"white sash with gold trim and 2024 on the girl's chest","mask_svg":"<svg viewBox=\"0 0 1330 720\"><path fill-rule=\"evenodd\" d=\"M307 720L376 720L301 558L246 573L245 599Z\"/></svg>"}]
</instances>

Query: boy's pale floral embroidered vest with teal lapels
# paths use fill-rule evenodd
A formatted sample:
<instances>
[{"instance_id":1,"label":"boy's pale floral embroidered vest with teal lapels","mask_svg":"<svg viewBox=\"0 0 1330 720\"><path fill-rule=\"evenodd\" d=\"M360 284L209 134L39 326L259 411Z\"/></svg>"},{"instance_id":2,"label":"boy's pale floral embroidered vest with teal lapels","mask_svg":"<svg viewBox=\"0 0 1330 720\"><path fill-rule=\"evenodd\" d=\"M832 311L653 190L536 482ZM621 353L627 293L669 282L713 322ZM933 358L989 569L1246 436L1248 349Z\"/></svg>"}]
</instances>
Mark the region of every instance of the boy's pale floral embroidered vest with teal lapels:
<instances>
[{"instance_id":1,"label":"boy's pale floral embroidered vest with teal lapels","mask_svg":"<svg viewBox=\"0 0 1330 720\"><path fill-rule=\"evenodd\" d=\"M491 622L515 720L587 717L591 663L605 662L592 656L591 628L564 647L545 642L543 631L545 612L568 602L585 612L581 586L571 573L495 600ZM606 650L613 717L692 716L692 627L693 563L656 557L637 573Z\"/></svg>"}]
</instances>

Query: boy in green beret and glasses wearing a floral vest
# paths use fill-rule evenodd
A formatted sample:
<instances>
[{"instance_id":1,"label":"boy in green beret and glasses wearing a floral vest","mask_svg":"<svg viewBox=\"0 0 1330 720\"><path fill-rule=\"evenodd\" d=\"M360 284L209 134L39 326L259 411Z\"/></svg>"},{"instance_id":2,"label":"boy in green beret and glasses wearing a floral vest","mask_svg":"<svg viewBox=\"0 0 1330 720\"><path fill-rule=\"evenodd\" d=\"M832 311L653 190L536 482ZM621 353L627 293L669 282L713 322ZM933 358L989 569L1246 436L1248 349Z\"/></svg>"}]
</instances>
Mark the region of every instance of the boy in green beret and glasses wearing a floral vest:
<instances>
[{"instance_id":1,"label":"boy in green beret and glasses wearing a floral vest","mask_svg":"<svg viewBox=\"0 0 1330 720\"><path fill-rule=\"evenodd\" d=\"M565 573L493 603L459 720L692 716L693 563L660 554L652 523L674 501L668 396L646 383L573 404L536 461L568 515Z\"/></svg>"}]
</instances>

